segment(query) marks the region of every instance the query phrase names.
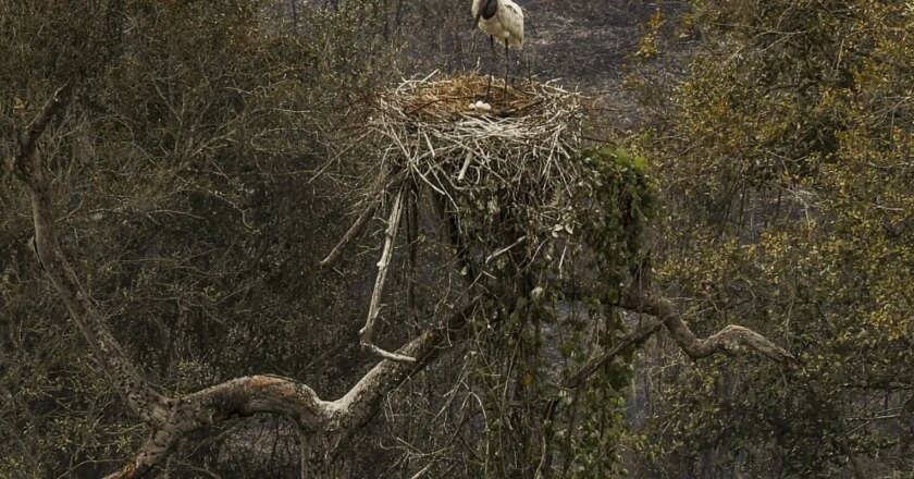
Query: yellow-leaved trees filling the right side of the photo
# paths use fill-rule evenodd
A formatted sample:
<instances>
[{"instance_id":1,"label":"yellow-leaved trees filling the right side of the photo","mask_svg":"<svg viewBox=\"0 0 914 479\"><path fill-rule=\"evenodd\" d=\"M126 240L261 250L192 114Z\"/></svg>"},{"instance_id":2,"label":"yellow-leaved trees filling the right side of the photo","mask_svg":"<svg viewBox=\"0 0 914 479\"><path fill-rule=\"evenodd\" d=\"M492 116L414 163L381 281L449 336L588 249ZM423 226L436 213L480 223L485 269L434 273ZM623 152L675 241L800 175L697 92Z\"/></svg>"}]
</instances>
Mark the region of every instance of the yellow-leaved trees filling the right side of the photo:
<instances>
[{"instance_id":1,"label":"yellow-leaved trees filling the right side of the photo","mask_svg":"<svg viewBox=\"0 0 914 479\"><path fill-rule=\"evenodd\" d=\"M804 365L657 345L652 477L896 477L914 440L914 10L692 2L684 77L632 75L664 205L656 279L699 330L737 320ZM655 17L643 57L663 54ZM649 48L644 48L644 47ZM653 73L651 73L653 72ZM646 78L646 79L645 79ZM670 86L671 85L671 86ZM643 390L643 389L642 389ZM644 390L643 390L644 391Z\"/></svg>"}]
</instances>

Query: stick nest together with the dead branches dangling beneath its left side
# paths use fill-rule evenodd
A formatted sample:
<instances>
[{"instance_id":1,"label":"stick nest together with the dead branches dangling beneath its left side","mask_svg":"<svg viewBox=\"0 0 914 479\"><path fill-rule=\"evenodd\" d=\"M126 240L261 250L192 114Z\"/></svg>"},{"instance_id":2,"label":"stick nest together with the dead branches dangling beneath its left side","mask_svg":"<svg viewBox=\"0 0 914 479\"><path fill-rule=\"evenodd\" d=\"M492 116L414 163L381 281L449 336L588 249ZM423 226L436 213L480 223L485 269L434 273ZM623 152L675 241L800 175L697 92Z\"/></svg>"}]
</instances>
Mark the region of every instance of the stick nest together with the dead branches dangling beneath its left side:
<instances>
[{"instance_id":1,"label":"stick nest together with the dead branches dangling beneath its left side","mask_svg":"<svg viewBox=\"0 0 914 479\"><path fill-rule=\"evenodd\" d=\"M585 170L573 161L581 143L581 97L552 83L527 82L482 108L485 87L486 78L471 72L405 81L379 96L371 127L382 145L381 181L365 193L362 214L323 265L336 261L386 206L384 246L360 332L362 346L385 358L413 360L373 341L399 223L404 211L420 210L421 195L408 192L435 198L473 270L471 281L478 274L501 277L509 254L524 258L517 267L558 261L561 268L564 255L555 248L575 232L572 198L586 186Z\"/></svg>"}]
</instances>

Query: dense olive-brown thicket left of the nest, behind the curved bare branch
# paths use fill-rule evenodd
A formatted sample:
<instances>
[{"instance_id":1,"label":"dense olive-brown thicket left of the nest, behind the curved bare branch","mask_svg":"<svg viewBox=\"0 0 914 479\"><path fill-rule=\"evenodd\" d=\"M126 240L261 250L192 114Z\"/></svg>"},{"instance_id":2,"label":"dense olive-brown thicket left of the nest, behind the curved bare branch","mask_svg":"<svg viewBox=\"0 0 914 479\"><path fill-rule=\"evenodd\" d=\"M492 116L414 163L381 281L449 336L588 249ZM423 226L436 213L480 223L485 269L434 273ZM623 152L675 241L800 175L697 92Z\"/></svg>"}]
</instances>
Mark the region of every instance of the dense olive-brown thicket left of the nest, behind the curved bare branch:
<instances>
[{"instance_id":1,"label":"dense olive-brown thicket left of the nest, behind the curved bare branch","mask_svg":"<svg viewBox=\"0 0 914 479\"><path fill-rule=\"evenodd\" d=\"M335 358L354 346L339 340L356 328L339 320L354 311L344 298L361 293L316 267L345 228L330 220L346 213L338 196L328 197L353 176L329 161L355 136L385 54L361 41L373 29L353 21L362 5L348 5L299 12L312 35L294 36L289 16L262 2L0 2L2 158L15 152L14 128L76 82L42 145L64 247L164 391L267 370L332 393L359 365ZM42 278L26 200L4 175L0 476L98 477L144 431ZM192 445L172 467L196 454L196 467L255 474L264 463L261 474L276 475L284 463L269 464L269 451L297 453L274 422L244 426L221 452Z\"/></svg>"}]
</instances>

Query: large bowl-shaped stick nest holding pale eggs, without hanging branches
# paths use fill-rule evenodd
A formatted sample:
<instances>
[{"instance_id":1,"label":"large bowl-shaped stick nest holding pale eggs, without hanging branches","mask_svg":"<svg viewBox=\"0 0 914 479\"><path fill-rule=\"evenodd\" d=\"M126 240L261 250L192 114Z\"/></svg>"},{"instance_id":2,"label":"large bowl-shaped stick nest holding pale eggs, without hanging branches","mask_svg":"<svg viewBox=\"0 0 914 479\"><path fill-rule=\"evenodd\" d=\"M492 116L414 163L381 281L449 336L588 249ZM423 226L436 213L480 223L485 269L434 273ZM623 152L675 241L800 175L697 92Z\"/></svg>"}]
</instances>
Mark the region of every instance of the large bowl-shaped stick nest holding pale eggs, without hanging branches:
<instances>
[{"instance_id":1,"label":"large bowl-shaped stick nest holding pale eggs, without hanging branches","mask_svg":"<svg viewBox=\"0 0 914 479\"><path fill-rule=\"evenodd\" d=\"M506 89L495 81L483 105L487 82L479 72L433 74L383 91L374 130L388 177L406 173L428 185L450 200L461 221L475 217L477 228L501 226L492 224L496 216L523 223L524 233L566 225L585 174L575 160L581 97L552 82L517 81Z\"/></svg>"}]
</instances>

